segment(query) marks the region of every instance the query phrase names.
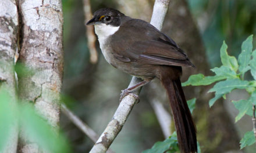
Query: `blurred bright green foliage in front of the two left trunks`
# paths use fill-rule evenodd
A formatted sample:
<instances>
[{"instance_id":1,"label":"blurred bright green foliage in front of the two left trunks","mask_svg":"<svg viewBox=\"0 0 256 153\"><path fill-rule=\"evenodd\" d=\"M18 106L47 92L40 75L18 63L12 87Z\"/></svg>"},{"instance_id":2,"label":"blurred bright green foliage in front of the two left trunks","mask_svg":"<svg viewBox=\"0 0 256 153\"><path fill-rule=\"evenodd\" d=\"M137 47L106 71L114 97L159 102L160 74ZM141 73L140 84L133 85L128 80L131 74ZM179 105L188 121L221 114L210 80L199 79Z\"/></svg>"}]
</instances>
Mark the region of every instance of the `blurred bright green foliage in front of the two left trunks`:
<instances>
[{"instance_id":1,"label":"blurred bright green foliage in front of the two left trunks","mask_svg":"<svg viewBox=\"0 0 256 153\"><path fill-rule=\"evenodd\" d=\"M47 152L70 152L69 145L62 134L56 133L58 129L52 129L47 121L38 115L34 107L29 103L20 101L15 104L10 97L7 88L0 90L0 152L3 150L13 125L21 125L23 132L33 140L40 148Z\"/></svg>"}]
</instances>

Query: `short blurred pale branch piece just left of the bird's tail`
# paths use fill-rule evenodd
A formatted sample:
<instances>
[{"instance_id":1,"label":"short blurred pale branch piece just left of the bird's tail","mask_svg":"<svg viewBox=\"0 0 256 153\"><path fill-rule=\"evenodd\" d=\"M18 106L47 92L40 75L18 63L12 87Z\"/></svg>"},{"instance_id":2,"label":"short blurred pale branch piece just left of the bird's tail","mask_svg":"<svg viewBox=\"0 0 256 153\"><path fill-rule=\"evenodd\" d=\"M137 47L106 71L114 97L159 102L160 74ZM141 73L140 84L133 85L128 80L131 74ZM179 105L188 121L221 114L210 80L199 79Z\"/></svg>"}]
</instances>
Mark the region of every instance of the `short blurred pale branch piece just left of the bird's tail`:
<instances>
[{"instance_id":1,"label":"short blurred pale branch piece just left of the bird's tail","mask_svg":"<svg viewBox=\"0 0 256 153\"><path fill-rule=\"evenodd\" d=\"M170 116L169 112L165 110L163 104L159 100L152 99L150 100L150 104L155 111L163 136L167 139L172 134L170 127L172 125L172 116Z\"/></svg>"}]
</instances>

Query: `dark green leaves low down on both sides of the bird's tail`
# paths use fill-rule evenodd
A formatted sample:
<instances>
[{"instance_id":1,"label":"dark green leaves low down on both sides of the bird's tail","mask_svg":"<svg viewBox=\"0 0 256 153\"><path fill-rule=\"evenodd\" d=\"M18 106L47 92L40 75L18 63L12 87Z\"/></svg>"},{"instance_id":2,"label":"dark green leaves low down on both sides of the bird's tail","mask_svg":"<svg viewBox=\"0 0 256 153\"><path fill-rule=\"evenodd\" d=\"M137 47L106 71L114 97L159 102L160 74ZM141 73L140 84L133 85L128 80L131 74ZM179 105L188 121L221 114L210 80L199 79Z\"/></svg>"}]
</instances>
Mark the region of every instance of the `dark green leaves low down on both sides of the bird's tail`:
<instances>
[{"instance_id":1,"label":"dark green leaves low down on both sides of the bird's tail","mask_svg":"<svg viewBox=\"0 0 256 153\"><path fill-rule=\"evenodd\" d=\"M191 113L193 112L195 108L195 100L191 99L187 101L187 104L189 105L189 109ZM200 145L197 143L198 147L198 153L201 153ZM145 150L142 153L175 153L179 151L178 147L178 141L177 141L177 133L173 132L172 136L170 136L168 139L165 139L164 141L158 141L153 145L153 147L149 150Z\"/></svg>"}]
</instances>

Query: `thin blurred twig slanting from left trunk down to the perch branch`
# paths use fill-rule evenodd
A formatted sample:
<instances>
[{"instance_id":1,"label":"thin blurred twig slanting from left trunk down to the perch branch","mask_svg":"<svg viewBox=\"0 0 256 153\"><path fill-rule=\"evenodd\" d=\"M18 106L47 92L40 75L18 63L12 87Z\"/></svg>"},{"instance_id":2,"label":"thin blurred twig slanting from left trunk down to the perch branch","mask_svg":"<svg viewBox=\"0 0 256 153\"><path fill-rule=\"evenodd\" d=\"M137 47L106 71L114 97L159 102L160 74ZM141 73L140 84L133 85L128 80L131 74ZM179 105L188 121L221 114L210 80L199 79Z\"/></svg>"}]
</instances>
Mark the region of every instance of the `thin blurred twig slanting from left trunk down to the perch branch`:
<instances>
[{"instance_id":1,"label":"thin blurred twig slanting from left trunk down to the perch branch","mask_svg":"<svg viewBox=\"0 0 256 153\"><path fill-rule=\"evenodd\" d=\"M65 104L61 104L61 111L77 126L84 134L86 134L94 143L98 140L98 134L94 132L86 123L81 121L79 117L73 114ZM108 149L108 153L114 153L111 149Z\"/></svg>"}]
</instances>

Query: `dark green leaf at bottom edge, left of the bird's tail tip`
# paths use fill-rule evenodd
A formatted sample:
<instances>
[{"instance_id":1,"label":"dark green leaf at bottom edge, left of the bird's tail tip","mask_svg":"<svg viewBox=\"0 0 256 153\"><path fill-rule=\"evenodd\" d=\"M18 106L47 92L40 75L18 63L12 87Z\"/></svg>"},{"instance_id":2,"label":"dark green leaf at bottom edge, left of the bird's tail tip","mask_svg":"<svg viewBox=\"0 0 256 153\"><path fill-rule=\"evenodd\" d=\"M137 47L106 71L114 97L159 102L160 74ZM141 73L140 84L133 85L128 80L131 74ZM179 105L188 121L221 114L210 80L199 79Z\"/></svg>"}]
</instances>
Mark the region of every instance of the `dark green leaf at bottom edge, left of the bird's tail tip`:
<instances>
[{"instance_id":1,"label":"dark green leaf at bottom edge, left of the bird's tail tip","mask_svg":"<svg viewBox=\"0 0 256 153\"><path fill-rule=\"evenodd\" d=\"M164 141L158 141L153 145L151 149L145 150L142 153L163 153L168 150L170 150L170 152L176 152L179 150L177 147L176 132L173 132L172 136L170 136L168 139Z\"/></svg>"}]
</instances>

